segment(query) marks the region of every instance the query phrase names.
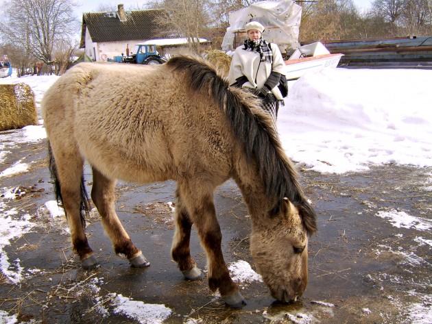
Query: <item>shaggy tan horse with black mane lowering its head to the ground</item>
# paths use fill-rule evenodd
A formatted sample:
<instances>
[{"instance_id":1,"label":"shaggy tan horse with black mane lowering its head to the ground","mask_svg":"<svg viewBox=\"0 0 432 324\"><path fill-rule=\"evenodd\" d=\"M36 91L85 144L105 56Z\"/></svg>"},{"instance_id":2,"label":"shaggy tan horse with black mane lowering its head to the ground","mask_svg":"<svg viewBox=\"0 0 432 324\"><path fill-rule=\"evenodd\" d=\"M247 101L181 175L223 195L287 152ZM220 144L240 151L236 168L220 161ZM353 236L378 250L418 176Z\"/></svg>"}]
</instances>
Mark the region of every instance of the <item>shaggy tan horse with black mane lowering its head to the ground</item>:
<instances>
[{"instance_id":1,"label":"shaggy tan horse with black mane lowering its head to the ground","mask_svg":"<svg viewBox=\"0 0 432 324\"><path fill-rule=\"evenodd\" d=\"M117 217L116 180L173 179L171 257L185 279L202 279L189 249L195 225L209 288L219 290L228 306L245 305L224 261L213 203L215 188L232 178L252 218L256 271L275 299L290 302L302 295L316 215L257 97L229 86L206 61L177 56L158 66L77 64L47 90L42 106L56 197L84 269L97 266L84 231L90 208L83 177L87 161L93 170L91 200L115 253L131 266L149 262Z\"/></svg>"}]
</instances>

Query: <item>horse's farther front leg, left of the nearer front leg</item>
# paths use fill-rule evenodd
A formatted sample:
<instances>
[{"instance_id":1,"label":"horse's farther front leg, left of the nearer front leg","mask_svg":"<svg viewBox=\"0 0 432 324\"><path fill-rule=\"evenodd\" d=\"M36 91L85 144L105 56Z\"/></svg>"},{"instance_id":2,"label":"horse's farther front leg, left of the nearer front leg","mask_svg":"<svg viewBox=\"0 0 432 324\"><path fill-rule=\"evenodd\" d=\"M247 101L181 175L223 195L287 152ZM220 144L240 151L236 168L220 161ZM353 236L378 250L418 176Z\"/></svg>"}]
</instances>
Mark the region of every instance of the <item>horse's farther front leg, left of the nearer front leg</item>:
<instances>
[{"instance_id":1,"label":"horse's farther front leg, left of the nearer front leg","mask_svg":"<svg viewBox=\"0 0 432 324\"><path fill-rule=\"evenodd\" d=\"M180 190L177 190L176 202L176 232L171 246L171 256L177 262L178 268L184 277L189 280L201 279L201 270L197 268L195 260L191 257L189 242L191 238L192 221L186 206L184 206Z\"/></svg>"}]
</instances>

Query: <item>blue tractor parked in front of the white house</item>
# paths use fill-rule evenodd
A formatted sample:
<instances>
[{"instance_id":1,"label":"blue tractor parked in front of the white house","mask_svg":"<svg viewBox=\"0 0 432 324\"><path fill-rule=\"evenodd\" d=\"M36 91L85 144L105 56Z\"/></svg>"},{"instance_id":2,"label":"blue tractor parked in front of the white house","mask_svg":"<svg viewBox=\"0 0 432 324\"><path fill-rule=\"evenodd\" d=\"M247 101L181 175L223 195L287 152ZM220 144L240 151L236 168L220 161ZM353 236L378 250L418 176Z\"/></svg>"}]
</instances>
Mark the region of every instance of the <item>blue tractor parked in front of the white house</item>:
<instances>
[{"instance_id":1,"label":"blue tractor parked in front of the white house","mask_svg":"<svg viewBox=\"0 0 432 324\"><path fill-rule=\"evenodd\" d=\"M136 44L131 55L129 55L129 47L126 47L126 55L121 53L121 56L114 57L114 61L118 63L149 65L167 62L167 60L160 57L158 51L156 51L156 45L147 44Z\"/></svg>"}]
</instances>

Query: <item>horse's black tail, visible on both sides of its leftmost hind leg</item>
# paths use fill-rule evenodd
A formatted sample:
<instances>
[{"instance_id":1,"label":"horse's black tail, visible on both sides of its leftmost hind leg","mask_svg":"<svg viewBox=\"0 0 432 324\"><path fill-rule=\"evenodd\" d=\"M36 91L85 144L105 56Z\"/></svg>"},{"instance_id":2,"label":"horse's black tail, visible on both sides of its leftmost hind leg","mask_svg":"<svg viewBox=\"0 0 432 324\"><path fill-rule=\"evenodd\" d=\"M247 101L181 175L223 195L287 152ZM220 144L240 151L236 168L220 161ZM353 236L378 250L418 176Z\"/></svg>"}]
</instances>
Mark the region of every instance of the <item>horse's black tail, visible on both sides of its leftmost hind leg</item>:
<instances>
[{"instance_id":1,"label":"horse's black tail, visible on both sides of its leftmost hind leg","mask_svg":"<svg viewBox=\"0 0 432 324\"><path fill-rule=\"evenodd\" d=\"M54 195L56 195L57 203L61 204L64 207L62 190L60 188L60 181L58 179L56 160L54 159L54 155L49 142L48 142L48 158L49 158L49 172L51 173L51 179L53 180L54 183ZM86 185L84 183L84 174L81 176L80 192L81 192L80 219L81 219L82 228L86 228L86 215L88 215L88 212L90 212L90 203L88 200ZM66 210L64 212L66 213Z\"/></svg>"}]
</instances>

